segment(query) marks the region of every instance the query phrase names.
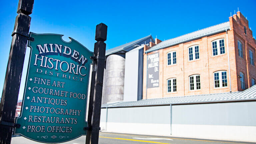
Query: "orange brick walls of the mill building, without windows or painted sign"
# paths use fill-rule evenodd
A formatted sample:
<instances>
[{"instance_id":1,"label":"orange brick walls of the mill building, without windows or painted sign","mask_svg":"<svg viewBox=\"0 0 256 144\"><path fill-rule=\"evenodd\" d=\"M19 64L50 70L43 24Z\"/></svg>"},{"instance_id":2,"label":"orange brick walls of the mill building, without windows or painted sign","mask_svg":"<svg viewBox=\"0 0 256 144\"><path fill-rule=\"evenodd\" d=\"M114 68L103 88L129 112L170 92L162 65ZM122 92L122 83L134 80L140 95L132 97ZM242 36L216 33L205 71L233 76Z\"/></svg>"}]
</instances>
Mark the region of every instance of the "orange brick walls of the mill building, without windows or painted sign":
<instances>
[{"instance_id":1,"label":"orange brick walls of the mill building, without windows or painted sign","mask_svg":"<svg viewBox=\"0 0 256 144\"><path fill-rule=\"evenodd\" d=\"M251 86L251 78L256 79L256 62L255 62L255 40L252 38L252 31L248 27L248 21L244 16L237 12L237 15L229 17L230 30L223 33L203 37L179 45L160 49L157 51L144 54L144 76L143 76L143 99L147 98L162 98L170 96L197 95L209 93L223 93L230 91L241 91L240 72L245 75L245 88ZM244 26L246 26L247 34L244 34ZM227 40L228 36L228 40ZM225 54L213 56L212 41L216 39L224 39ZM243 45L243 58L238 56L237 40ZM227 45L228 44L228 45ZM199 59L189 61L188 47L199 45ZM250 64L249 49L254 53L254 63ZM176 51L177 64L167 65L167 53ZM149 88L146 90L147 80L147 55L159 52L159 87ZM229 59L228 59L229 52ZM230 75L229 66L230 62ZM227 87L214 88L213 73L219 70L227 71ZM189 76L200 74L201 89L189 90ZM176 78L177 92L167 93L167 79Z\"/></svg>"}]
</instances>

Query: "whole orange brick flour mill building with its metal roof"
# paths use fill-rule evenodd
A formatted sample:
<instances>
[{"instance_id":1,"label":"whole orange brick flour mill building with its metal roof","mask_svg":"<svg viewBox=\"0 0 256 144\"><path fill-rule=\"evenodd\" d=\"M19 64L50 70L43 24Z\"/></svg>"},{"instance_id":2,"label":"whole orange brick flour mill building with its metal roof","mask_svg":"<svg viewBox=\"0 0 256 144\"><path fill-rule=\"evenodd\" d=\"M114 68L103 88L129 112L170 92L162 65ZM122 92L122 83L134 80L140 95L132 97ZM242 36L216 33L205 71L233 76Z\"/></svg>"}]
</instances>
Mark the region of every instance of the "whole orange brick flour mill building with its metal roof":
<instances>
[{"instance_id":1,"label":"whole orange brick flour mill building with its metal roof","mask_svg":"<svg viewBox=\"0 0 256 144\"><path fill-rule=\"evenodd\" d=\"M144 46L143 99L243 91L255 84L256 41L240 13ZM152 69L153 68L153 69Z\"/></svg>"}]
</instances>

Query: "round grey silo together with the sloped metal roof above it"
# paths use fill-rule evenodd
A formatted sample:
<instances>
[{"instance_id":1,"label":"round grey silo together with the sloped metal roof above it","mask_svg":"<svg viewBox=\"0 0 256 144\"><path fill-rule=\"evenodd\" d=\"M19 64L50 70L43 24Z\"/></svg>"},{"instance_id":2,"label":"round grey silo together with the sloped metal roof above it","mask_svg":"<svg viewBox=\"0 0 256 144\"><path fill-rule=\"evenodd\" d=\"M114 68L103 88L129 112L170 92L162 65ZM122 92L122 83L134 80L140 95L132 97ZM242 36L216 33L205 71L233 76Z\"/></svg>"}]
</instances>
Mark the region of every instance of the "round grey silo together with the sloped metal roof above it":
<instances>
[{"instance_id":1,"label":"round grey silo together with the sloped metal roof above it","mask_svg":"<svg viewBox=\"0 0 256 144\"><path fill-rule=\"evenodd\" d=\"M123 101L125 53L150 41L154 42L151 35L106 51L102 104Z\"/></svg>"}]
</instances>

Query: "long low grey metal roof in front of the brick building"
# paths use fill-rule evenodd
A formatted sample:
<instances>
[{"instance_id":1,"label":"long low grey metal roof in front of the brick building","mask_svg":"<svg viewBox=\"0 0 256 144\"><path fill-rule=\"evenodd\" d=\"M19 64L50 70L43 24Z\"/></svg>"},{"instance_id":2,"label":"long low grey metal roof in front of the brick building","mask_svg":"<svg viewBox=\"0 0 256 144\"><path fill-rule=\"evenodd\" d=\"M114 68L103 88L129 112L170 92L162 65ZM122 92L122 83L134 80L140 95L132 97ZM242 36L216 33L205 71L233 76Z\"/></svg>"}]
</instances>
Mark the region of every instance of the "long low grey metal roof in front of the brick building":
<instances>
[{"instance_id":1,"label":"long low grey metal roof in front of the brick building","mask_svg":"<svg viewBox=\"0 0 256 144\"><path fill-rule=\"evenodd\" d=\"M170 105L170 104L193 104L193 103L213 103L213 102L232 102L232 101L252 101L256 100L256 85L239 92L226 92L217 94L202 94L180 97L167 97L156 99L144 99L134 102L114 102L103 104L101 107L133 107L150 105Z\"/></svg>"}]
</instances>

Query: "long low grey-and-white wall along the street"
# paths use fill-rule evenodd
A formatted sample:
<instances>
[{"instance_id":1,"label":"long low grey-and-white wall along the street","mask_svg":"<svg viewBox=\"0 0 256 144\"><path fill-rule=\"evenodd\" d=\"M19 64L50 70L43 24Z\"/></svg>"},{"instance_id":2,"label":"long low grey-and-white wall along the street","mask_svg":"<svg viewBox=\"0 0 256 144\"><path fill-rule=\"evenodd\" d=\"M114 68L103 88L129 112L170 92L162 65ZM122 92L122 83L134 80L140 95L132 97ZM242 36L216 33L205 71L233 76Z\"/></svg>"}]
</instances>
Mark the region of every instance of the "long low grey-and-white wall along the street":
<instances>
[{"instance_id":1,"label":"long low grey-and-white wall along the street","mask_svg":"<svg viewBox=\"0 0 256 144\"><path fill-rule=\"evenodd\" d=\"M102 108L100 127L116 133L256 142L255 109L255 101Z\"/></svg>"}]
</instances>

